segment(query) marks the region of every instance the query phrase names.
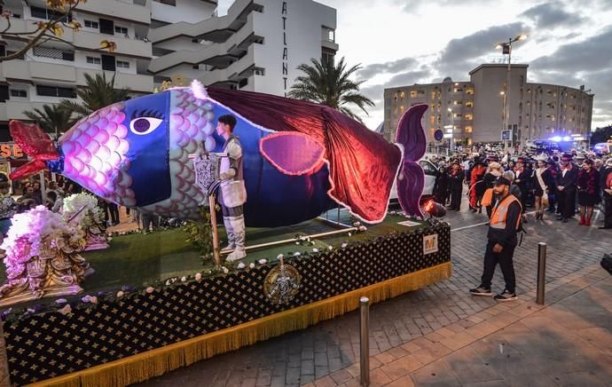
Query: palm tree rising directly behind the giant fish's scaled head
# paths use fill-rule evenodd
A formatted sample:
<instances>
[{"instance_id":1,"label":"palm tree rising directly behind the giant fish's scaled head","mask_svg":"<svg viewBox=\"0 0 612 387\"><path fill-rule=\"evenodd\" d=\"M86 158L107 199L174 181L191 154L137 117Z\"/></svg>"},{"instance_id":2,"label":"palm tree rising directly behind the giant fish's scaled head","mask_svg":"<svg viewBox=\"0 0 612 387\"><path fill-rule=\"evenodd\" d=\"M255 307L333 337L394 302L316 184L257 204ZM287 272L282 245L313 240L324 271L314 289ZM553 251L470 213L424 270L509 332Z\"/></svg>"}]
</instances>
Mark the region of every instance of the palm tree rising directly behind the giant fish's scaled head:
<instances>
[{"instance_id":1,"label":"palm tree rising directly behind the giant fish's scaled head","mask_svg":"<svg viewBox=\"0 0 612 387\"><path fill-rule=\"evenodd\" d=\"M82 99L82 103L64 99L59 103L60 107L74 112L82 117L90 115L96 110L113 105L128 99L129 89L114 89L114 75L110 81L106 81L106 74L96 74L95 77L85 74L87 87L76 91L76 95Z\"/></svg>"}]
</instances>

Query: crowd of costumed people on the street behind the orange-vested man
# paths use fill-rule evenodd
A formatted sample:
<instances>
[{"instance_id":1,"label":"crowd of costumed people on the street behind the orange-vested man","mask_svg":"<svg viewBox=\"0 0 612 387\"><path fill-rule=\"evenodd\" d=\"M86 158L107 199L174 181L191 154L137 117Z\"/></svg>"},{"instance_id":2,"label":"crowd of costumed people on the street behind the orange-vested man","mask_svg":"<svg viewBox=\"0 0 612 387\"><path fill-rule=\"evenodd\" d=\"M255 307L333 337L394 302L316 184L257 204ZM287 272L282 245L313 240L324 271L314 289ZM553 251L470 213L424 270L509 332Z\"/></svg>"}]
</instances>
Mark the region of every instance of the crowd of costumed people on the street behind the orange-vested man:
<instances>
[{"instance_id":1,"label":"crowd of costumed people on the street behind the orange-vested man","mask_svg":"<svg viewBox=\"0 0 612 387\"><path fill-rule=\"evenodd\" d=\"M464 194L469 210L490 217L495 206L493 181L510 181L510 194L522 206L522 222L528 223L526 209L535 210L535 220L545 213L556 214L563 223L579 215L578 224L592 225L593 210L604 212L600 229L612 228L612 156L592 153L537 152L517 154L486 152L458 154L456 157L428 157L438 166L435 201L459 211Z\"/></svg>"}]
</instances>

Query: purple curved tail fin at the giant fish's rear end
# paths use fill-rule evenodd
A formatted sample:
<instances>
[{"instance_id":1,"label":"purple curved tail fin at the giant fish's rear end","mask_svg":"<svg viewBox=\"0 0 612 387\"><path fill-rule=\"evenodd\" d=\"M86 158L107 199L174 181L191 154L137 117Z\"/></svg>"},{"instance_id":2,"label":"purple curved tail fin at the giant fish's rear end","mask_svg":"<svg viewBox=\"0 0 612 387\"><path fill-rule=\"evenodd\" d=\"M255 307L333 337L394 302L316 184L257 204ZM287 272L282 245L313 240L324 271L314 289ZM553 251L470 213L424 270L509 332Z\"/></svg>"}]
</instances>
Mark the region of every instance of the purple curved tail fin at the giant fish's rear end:
<instances>
[{"instance_id":1,"label":"purple curved tail fin at the giant fish's rear end","mask_svg":"<svg viewBox=\"0 0 612 387\"><path fill-rule=\"evenodd\" d=\"M402 168L397 176L397 199L400 206L412 217L422 217L420 196L425 186L425 173L419 160L425 154L427 138L420 120L428 105L420 104L410 107L397 124L396 143L404 146Z\"/></svg>"}]
</instances>

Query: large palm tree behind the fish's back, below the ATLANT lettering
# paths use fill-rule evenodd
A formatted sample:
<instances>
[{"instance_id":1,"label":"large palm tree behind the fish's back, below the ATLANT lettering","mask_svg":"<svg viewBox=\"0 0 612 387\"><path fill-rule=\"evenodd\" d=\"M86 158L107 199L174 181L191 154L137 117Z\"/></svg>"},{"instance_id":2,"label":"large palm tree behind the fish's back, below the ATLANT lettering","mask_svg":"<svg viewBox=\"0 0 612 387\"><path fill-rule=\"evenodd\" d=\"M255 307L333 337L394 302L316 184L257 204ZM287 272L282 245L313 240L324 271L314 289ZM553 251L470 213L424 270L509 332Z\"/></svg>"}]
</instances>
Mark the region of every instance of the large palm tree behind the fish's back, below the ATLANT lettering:
<instances>
[{"instance_id":1,"label":"large palm tree behind the fish's back, below the ATLANT lettering","mask_svg":"<svg viewBox=\"0 0 612 387\"><path fill-rule=\"evenodd\" d=\"M354 82L349 79L350 75L353 75L361 66L356 65L347 69L344 58L340 59L337 65L334 65L333 61L322 63L314 58L310 61L312 65L304 63L297 67L306 75L296 78L297 82L291 87L288 96L333 107L358 122L362 122L346 107L347 104L356 105L367 115L365 107L374 106L372 99L359 93L359 85L364 81Z\"/></svg>"}]
</instances>

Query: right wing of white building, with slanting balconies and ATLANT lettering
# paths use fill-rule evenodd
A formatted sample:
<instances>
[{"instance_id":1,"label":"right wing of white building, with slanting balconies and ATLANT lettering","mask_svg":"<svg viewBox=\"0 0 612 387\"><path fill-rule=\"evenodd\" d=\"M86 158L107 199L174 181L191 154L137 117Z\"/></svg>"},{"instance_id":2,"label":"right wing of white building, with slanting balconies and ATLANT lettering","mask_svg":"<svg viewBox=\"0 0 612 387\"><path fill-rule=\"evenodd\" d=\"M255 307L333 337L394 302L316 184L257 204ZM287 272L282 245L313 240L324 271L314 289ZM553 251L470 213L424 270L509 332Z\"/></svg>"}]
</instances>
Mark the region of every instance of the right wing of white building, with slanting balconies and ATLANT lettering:
<instances>
[{"instance_id":1,"label":"right wing of white building, with slanting balconies and ATLANT lettering","mask_svg":"<svg viewBox=\"0 0 612 387\"><path fill-rule=\"evenodd\" d=\"M149 71L156 84L182 75L217 87L285 95L299 75L296 67L312 58L333 59L338 51L336 11L314 1L236 0L227 15L210 17L211 6L181 21L171 16L169 3L175 1L177 8L187 3L153 3Z\"/></svg>"}]
</instances>

